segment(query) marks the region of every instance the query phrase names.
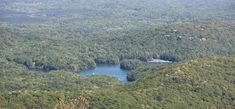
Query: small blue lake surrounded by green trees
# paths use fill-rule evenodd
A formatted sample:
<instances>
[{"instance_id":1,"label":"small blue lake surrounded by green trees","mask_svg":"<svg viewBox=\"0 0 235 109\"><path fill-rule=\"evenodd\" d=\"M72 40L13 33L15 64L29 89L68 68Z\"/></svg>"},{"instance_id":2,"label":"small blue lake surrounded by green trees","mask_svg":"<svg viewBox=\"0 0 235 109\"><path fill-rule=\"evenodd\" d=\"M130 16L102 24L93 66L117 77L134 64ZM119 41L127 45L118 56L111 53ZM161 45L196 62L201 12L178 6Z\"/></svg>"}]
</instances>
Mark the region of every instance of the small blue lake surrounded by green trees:
<instances>
[{"instance_id":1,"label":"small blue lake surrounded by green trees","mask_svg":"<svg viewBox=\"0 0 235 109\"><path fill-rule=\"evenodd\" d=\"M115 77L122 82L127 81L127 70L120 69L120 64L116 65L97 65L95 69L89 69L80 72L81 77L87 77L91 75L107 75Z\"/></svg>"}]
</instances>

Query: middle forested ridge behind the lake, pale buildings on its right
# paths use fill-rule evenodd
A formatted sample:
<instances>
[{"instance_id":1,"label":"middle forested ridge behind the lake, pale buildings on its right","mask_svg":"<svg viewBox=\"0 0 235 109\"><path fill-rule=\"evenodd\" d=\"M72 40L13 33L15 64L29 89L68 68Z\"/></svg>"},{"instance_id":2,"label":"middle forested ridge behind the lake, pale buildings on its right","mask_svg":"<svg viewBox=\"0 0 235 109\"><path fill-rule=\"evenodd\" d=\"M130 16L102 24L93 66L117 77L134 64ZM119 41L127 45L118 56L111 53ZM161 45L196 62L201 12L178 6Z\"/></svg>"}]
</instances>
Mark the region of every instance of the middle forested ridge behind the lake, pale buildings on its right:
<instances>
[{"instance_id":1,"label":"middle forested ridge behind the lake, pale buildings on its right","mask_svg":"<svg viewBox=\"0 0 235 109\"><path fill-rule=\"evenodd\" d=\"M235 54L234 25L234 22L174 23L103 31L89 36L66 33L66 28L74 26L65 30L50 30L47 26L26 26L14 31L2 28L0 55L28 69L73 72L96 64L115 64L123 59L147 61L154 57L181 61L230 56Z\"/></svg>"}]
</instances>

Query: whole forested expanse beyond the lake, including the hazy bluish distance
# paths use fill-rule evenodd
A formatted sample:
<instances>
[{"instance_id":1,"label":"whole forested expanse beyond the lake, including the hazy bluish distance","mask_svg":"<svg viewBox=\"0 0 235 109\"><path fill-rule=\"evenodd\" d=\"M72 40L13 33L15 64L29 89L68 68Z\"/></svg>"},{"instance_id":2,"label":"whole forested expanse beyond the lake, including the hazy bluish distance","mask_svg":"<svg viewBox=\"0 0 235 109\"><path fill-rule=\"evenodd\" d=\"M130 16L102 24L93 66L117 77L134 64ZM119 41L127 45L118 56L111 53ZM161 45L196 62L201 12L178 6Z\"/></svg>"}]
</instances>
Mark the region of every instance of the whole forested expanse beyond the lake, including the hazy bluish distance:
<instances>
[{"instance_id":1,"label":"whole forested expanse beyond the lake, including the hazy bluish distance","mask_svg":"<svg viewBox=\"0 0 235 109\"><path fill-rule=\"evenodd\" d=\"M80 72L123 59L234 55L234 0L9 0L0 56Z\"/></svg>"}]
</instances>

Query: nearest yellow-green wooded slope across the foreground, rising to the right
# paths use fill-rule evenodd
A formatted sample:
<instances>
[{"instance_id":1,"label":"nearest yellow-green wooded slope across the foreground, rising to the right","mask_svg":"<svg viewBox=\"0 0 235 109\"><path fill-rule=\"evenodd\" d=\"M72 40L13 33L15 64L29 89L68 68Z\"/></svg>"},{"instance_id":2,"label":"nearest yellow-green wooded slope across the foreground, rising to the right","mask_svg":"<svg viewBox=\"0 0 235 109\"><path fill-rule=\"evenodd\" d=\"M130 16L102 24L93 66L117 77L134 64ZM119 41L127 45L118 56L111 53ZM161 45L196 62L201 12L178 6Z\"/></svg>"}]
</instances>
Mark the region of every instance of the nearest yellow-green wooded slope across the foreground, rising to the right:
<instances>
[{"instance_id":1,"label":"nearest yellow-green wooded slope across the foreground, rising to the right","mask_svg":"<svg viewBox=\"0 0 235 109\"><path fill-rule=\"evenodd\" d=\"M79 108L77 103L92 109L235 107L234 57L189 60L161 68L153 65L136 72L143 76L133 83L108 89L66 93L29 89L1 93L0 107Z\"/></svg>"}]
</instances>

